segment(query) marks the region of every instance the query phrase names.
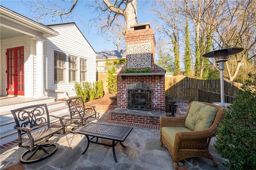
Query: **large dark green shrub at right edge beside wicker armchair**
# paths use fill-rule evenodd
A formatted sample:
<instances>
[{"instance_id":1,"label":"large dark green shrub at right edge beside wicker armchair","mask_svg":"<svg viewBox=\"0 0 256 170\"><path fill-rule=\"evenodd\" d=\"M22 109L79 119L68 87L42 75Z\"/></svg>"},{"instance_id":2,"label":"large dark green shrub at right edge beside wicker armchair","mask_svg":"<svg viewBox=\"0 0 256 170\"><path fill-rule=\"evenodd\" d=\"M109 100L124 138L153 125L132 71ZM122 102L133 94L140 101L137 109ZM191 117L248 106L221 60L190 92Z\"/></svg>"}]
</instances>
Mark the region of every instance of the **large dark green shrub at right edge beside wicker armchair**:
<instances>
[{"instance_id":1,"label":"large dark green shrub at right edge beside wicker armchair","mask_svg":"<svg viewBox=\"0 0 256 170\"><path fill-rule=\"evenodd\" d=\"M256 75L249 77L217 128L214 146L231 170L256 169Z\"/></svg>"}]
</instances>

